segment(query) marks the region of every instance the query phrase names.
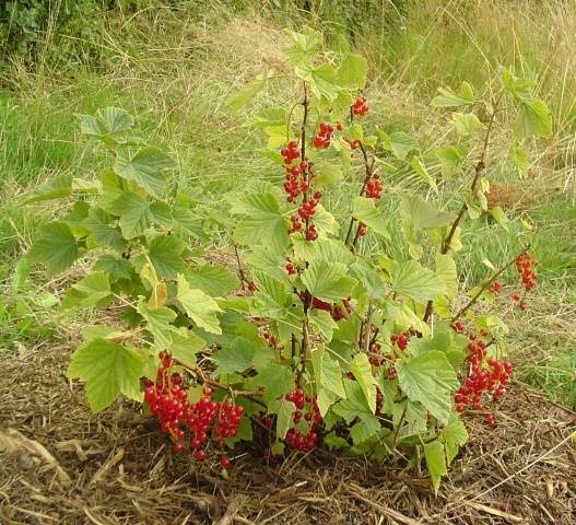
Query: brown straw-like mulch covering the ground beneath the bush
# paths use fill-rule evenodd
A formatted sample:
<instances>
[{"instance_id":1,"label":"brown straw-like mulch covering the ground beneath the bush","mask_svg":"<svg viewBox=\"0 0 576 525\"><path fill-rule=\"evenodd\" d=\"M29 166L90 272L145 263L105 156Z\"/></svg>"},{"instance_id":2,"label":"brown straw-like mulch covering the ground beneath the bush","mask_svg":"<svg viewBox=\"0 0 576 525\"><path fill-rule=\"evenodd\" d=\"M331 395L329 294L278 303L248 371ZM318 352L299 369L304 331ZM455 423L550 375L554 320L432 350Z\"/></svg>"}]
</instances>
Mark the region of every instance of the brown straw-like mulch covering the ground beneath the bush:
<instances>
[{"instance_id":1,"label":"brown straw-like mulch covering the ground beneath the bush","mask_svg":"<svg viewBox=\"0 0 576 525\"><path fill-rule=\"evenodd\" d=\"M230 479L171 454L129 404L92 416L66 347L0 357L0 524L576 524L576 415L521 384L437 498L425 471L293 455ZM45 447L45 448L44 448ZM506 506L503 506L503 505Z\"/></svg>"}]
</instances>

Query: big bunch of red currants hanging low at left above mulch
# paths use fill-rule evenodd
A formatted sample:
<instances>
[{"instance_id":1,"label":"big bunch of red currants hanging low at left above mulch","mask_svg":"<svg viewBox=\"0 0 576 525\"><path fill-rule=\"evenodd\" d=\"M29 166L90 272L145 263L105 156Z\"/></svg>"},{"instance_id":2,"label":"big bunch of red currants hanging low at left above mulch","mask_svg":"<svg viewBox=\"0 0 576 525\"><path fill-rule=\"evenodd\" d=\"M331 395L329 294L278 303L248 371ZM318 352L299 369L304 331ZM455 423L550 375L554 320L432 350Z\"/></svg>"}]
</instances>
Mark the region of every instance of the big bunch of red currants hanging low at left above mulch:
<instances>
[{"instance_id":1,"label":"big bunch of red currants hanging low at left above mulch","mask_svg":"<svg viewBox=\"0 0 576 525\"><path fill-rule=\"evenodd\" d=\"M144 401L150 411L158 418L162 431L171 434L174 452L184 452L183 440L186 436L185 430L188 429L192 433L190 448L195 451L196 459L203 462L207 453L202 446L208 443L210 432L218 446L223 448L224 440L236 435L244 408L215 401L212 398L212 388L208 386L204 386L202 397L191 404L188 400L188 389L181 384L180 374L171 373L172 358L163 351L160 353L160 360L156 381L144 380ZM215 425L212 424L214 420ZM221 465L227 468L230 459L222 456Z\"/></svg>"}]
</instances>

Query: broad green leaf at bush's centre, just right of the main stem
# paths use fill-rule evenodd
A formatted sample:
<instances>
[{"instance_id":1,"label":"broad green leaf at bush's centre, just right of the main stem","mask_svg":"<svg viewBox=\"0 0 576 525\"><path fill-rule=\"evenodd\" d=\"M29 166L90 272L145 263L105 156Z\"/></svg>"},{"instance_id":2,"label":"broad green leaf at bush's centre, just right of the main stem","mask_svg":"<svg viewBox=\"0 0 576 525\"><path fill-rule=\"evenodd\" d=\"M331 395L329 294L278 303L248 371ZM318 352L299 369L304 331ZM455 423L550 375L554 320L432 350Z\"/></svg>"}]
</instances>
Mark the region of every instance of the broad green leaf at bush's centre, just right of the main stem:
<instances>
[{"instance_id":1,"label":"broad green leaf at bush's centre, just right of the main stem","mask_svg":"<svg viewBox=\"0 0 576 525\"><path fill-rule=\"evenodd\" d=\"M315 259L303 273L302 282L313 296L333 302L350 296L356 283L345 272L345 265Z\"/></svg>"}]
</instances>

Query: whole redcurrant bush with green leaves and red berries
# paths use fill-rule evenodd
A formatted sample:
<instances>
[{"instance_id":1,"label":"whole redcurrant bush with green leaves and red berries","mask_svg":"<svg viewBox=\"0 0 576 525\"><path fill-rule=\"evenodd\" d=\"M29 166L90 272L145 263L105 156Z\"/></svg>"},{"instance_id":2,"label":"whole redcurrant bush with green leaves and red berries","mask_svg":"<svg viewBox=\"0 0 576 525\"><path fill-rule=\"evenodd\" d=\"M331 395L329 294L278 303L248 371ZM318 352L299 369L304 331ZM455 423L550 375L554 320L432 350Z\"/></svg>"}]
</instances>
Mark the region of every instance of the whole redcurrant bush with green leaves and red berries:
<instances>
[{"instance_id":1,"label":"whole redcurrant bush with green leaves and red berries","mask_svg":"<svg viewBox=\"0 0 576 525\"><path fill-rule=\"evenodd\" d=\"M238 110L278 82L299 93L247 117L266 139L268 171L238 191L191 198L198 188L172 175L171 155L134 138L126 112L81 116L111 167L59 188L77 203L27 257L54 275L91 252L62 308L124 308L84 330L68 369L94 411L120 395L141 401L173 452L207 468L231 468L239 442L267 460L318 446L374 460L422 453L437 490L467 442L462 415L496 425L513 373L496 310L510 304L503 295L525 310L537 282L529 233L471 290L455 254L481 243L462 235L469 222L492 217L490 235L506 226L485 196L508 162L487 149L499 109L522 122L514 151L549 133L550 113L532 83L508 71L494 100L466 82L443 89L432 105L439 121L451 113L455 128L433 152L435 170L428 149L377 112L360 55L329 51L311 30L292 37L293 74L231 98ZM418 187L402 186L408 173ZM435 201L439 186L457 206ZM227 267L202 258L214 232L230 241ZM520 288L508 295L514 265Z\"/></svg>"}]
</instances>

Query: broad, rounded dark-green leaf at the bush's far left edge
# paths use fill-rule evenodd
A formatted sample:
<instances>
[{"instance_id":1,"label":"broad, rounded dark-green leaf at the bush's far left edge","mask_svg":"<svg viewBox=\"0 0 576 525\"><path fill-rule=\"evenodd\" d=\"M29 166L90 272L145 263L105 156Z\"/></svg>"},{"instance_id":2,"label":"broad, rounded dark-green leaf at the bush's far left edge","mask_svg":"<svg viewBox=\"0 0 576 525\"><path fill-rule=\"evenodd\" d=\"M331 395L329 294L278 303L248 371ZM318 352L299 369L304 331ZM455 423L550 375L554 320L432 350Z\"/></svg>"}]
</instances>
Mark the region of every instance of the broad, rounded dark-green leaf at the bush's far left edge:
<instances>
[{"instance_id":1,"label":"broad, rounded dark-green leaf at the bush's far left edge","mask_svg":"<svg viewBox=\"0 0 576 525\"><path fill-rule=\"evenodd\" d=\"M50 275L66 270L78 258L78 246L70 228L63 222L44 225L27 257L32 262L44 262Z\"/></svg>"}]
</instances>

